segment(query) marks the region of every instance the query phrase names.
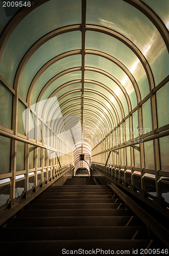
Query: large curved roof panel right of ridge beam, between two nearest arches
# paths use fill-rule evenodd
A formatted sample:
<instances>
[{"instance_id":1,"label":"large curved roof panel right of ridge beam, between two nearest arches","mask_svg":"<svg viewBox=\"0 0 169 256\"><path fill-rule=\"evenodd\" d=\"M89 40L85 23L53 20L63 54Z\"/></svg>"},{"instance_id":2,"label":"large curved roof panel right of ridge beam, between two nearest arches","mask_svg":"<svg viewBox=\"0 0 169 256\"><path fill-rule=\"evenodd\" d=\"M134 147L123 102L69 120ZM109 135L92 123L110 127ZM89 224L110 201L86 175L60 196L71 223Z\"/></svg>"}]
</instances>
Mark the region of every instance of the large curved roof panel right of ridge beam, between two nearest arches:
<instances>
[{"instance_id":1,"label":"large curved roof panel right of ridge beam, between two nearest arches","mask_svg":"<svg viewBox=\"0 0 169 256\"><path fill-rule=\"evenodd\" d=\"M162 6L165 8L165 4ZM110 28L134 42L136 47L147 58L156 84L166 77L166 67L168 67L169 60L164 41L151 20L135 7L123 0L107 0L106 2L99 0L97 4L96 0L91 0L87 4L87 23ZM96 45L98 45L97 41ZM102 51L104 51L104 48L103 40ZM121 49L120 44L119 49ZM127 52L124 56L127 57ZM134 63L136 62L131 61L131 63L132 66L135 66ZM163 78L160 80L161 77Z\"/></svg>"}]
</instances>

